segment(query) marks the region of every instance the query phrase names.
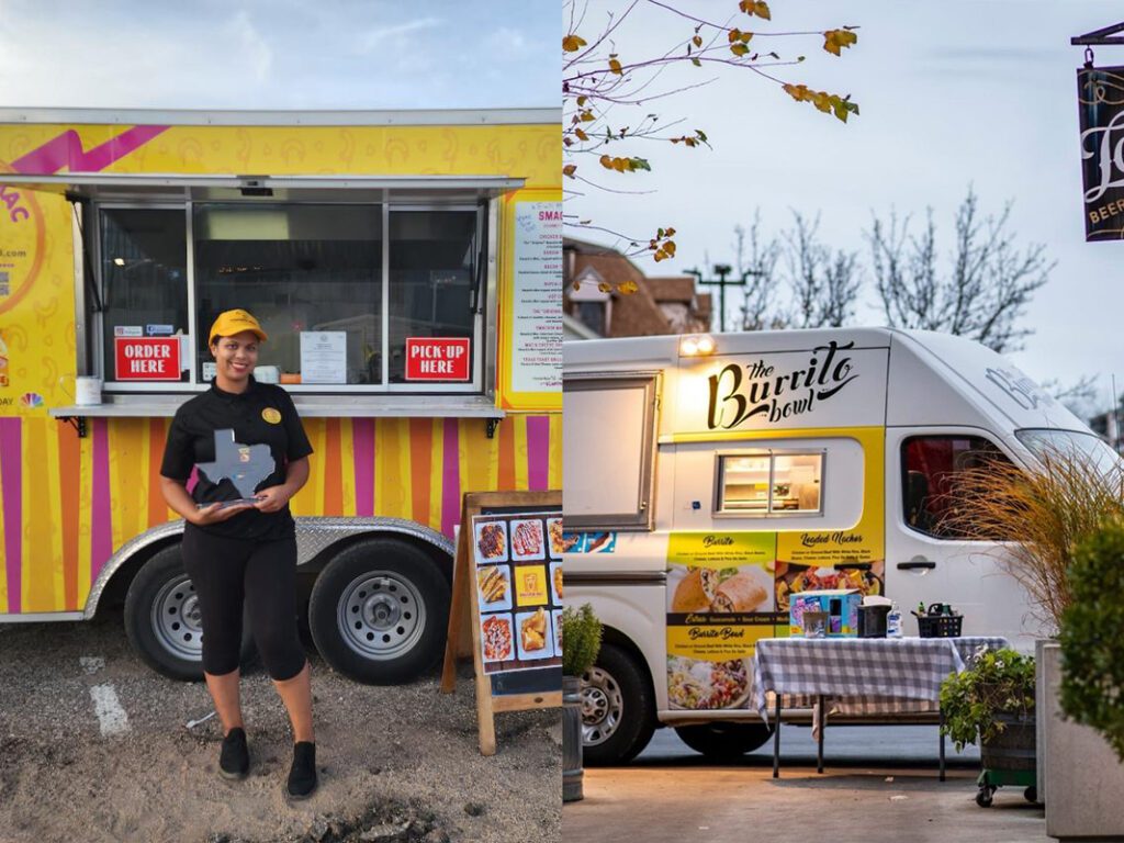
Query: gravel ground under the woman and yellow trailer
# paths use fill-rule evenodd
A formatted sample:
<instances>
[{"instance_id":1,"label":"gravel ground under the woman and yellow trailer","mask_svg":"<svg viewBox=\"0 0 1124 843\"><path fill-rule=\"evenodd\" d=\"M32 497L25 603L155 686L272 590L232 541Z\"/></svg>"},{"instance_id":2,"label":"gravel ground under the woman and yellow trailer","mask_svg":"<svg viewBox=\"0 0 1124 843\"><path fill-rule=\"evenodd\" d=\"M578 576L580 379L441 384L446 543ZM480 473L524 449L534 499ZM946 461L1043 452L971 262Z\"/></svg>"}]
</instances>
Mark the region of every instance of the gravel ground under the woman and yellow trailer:
<instances>
[{"instance_id":1,"label":"gravel ground under the woman and yellow trailer","mask_svg":"<svg viewBox=\"0 0 1124 843\"><path fill-rule=\"evenodd\" d=\"M288 717L261 669L242 683L251 776L227 782L217 772L217 718L187 726L212 710L206 686L146 668L120 611L0 626L0 841L561 837L559 710L497 715L499 750L484 758L471 663L445 696L436 671L408 686L362 686L306 647L320 788L290 804Z\"/></svg>"}]
</instances>

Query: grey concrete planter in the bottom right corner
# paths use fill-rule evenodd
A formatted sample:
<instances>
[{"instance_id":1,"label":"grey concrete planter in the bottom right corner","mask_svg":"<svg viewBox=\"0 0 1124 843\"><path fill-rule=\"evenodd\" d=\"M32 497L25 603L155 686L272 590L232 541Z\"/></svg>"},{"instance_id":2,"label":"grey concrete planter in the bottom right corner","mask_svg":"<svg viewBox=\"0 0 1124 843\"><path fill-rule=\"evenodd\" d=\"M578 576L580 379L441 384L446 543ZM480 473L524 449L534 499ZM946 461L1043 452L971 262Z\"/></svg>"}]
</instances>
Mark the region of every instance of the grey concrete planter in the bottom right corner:
<instances>
[{"instance_id":1,"label":"grey concrete planter in the bottom right corner","mask_svg":"<svg viewBox=\"0 0 1124 843\"><path fill-rule=\"evenodd\" d=\"M1062 719L1060 645L1040 642L1039 654L1039 792L1046 834L1072 843L1124 839L1124 764L1096 731Z\"/></svg>"}]
</instances>

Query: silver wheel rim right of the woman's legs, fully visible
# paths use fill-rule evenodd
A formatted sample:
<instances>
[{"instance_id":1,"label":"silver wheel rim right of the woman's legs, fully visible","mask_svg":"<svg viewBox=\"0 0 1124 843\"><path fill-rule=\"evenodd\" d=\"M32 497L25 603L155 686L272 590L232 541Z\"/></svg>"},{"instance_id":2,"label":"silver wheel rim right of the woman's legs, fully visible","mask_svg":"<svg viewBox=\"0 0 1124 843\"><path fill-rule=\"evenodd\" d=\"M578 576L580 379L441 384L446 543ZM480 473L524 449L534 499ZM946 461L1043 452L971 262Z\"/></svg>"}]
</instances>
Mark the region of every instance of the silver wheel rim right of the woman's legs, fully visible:
<instances>
[{"instance_id":1,"label":"silver wheel rim right of the woman's legs, fully visible","mask_svg":"<svg viewBox=\"0 0 1124 843\"><path fill-rule=\"evenodd\" d=\"M343 590L336 622L339 635L359 655L397 659L425 632L425 602L417 587L392 571L368 571Z\"/></svg>"}]
</instances>

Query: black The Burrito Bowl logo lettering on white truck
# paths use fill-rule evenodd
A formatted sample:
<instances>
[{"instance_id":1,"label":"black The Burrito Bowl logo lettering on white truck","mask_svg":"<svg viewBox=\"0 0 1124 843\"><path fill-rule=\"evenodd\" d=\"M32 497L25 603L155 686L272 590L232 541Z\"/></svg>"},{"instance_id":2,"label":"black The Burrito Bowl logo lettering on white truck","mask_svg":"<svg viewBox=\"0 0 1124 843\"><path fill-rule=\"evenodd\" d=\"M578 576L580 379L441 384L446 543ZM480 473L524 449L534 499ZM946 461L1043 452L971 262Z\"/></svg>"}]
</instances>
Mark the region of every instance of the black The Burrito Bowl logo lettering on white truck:
<instances>
[{"instance_id":1,"label":"black The Burrito Bowl logo lettering on white truck","mask_svg":"<svg viewBox=\"0 0 1124 843\"><path fill-rule=\"evenodd\" d=\"M834 339L813 348L803 369L778 371L764 359L729 363L709 378L710 406L707 426L732 429L760 416L768 424L812 413L859 377L845 352L854 342Z\"/></svg>"}]
</instances>

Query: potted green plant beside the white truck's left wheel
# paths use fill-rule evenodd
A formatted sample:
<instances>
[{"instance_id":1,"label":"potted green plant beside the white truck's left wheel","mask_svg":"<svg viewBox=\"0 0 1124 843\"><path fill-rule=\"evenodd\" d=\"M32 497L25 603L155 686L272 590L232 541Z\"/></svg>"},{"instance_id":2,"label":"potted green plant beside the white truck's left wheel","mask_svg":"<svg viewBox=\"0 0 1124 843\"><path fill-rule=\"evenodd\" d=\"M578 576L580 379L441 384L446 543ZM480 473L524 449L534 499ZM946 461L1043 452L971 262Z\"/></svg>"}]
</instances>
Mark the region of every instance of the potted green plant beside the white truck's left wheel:
<instances>
[{"instance_id":1,"label":"potted green plant beside the white truck's left wheel","mask_svg":"<svg viewBox=\"0 0 1124 843\"><path fill-rule=\"evenodd\" d=\"M597 661L601 632L588 602L562 611L562 801L582 798L581 678Z\"/></svg>"}]
</instances>

